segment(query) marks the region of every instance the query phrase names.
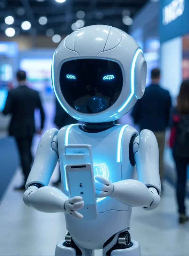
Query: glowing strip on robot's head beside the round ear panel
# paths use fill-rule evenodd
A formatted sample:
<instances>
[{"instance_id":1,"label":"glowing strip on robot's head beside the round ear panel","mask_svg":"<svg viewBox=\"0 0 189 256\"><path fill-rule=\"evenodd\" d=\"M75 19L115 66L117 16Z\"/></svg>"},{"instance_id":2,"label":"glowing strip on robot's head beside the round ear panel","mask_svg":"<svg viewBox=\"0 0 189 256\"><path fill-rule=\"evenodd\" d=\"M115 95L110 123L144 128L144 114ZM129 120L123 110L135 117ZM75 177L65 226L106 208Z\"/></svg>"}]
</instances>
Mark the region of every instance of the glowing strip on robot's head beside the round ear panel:
<instances>
[{"instance_id":1,"label":"glowing strip on robot's head beside the round ear panel","mask_svg":"<svg viewBox=\"0 0 189 256\"><path fill-rule=\"evenodd\" d=\"M129 98L126 100L126 102L123 104L123 106L120 109L118 109L118 113L121 112L127 106L129 101L132 99L132 96L134 95L135 65L136 65L137 58L138 58L140 52L142 52L142 50L139 48L135 52L133 60L132 60L132 66L131 66L131 94L130 94Z\"/></svg>"}]
</instances>

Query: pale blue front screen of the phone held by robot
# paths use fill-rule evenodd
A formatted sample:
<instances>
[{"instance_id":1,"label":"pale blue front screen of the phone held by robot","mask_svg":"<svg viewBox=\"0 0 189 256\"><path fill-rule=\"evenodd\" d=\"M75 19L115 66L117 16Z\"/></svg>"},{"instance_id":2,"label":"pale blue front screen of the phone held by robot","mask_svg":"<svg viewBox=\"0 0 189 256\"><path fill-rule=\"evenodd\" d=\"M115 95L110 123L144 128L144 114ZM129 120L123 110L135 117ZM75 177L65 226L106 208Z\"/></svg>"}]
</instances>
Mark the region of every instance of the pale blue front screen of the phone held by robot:
<instances>
[{"instance_id":1,"label":"pale blue front screen of the phone held by robot","mask_svg":"<svg viewBox=\"0 0 189 256\"><path fill-rule=\"evenodd\" d=\"M82 196L85 204L96 204L90 171L68 172L68 179L71 197Z\"/></svg>"}]
</instances>

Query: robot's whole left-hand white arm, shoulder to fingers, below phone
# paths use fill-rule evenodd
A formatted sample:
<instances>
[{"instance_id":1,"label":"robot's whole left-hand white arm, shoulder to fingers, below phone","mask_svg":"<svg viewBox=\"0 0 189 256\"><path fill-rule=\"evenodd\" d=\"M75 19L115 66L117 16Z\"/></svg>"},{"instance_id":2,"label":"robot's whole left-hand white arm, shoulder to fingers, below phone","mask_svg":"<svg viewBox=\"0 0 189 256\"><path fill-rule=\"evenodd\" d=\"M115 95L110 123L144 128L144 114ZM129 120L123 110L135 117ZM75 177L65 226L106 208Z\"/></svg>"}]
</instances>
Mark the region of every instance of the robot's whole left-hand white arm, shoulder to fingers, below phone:
<instances>
[{"instance_id":1,"label":"robot's whole left-hand white arm, shoulder to fingers, below phone","mask_svg":"<svg viewBox=\"0 0 189 256\"><path fill-rule=\"evenodd\" d=\"M83 216L75 211L83 207L82 197L68 198L59 189L48 186L58 161L57 133L57 129L49 129L40 140L26 181L24 203L40 212L64 212L82 219Z\"/></svg>"}]
</instances>

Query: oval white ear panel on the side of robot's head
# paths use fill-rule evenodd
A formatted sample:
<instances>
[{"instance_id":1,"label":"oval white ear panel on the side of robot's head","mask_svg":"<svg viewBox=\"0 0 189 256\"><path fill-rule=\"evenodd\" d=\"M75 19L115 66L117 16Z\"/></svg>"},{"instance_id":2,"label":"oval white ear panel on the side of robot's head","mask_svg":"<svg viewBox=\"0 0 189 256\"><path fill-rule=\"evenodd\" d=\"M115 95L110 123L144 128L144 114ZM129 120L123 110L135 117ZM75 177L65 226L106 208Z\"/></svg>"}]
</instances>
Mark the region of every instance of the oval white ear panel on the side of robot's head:
<instances>
[{"instance_id":1,"label":"oval white ear panel on the side of robot's head","mask_svg":"<svg viewBox=\"0 0 189 256\"><path fill-rule=\"evenodd\" d=\"M146 88L147 63L142 52L139 53L135 65L135 86L134 94L137 99L141 99Z\"/></svg>"}]
</instances>

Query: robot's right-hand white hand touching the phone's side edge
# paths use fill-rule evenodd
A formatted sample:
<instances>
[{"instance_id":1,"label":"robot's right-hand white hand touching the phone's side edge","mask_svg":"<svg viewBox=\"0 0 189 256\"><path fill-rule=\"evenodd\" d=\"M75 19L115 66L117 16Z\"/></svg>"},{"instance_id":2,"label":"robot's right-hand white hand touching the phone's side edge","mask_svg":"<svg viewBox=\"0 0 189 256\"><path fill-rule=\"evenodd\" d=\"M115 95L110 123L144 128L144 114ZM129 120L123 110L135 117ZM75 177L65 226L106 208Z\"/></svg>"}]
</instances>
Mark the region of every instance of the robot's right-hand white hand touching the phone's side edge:
<instances>
[{"instance_id":1,"label":"robot's right-hand white hand touching the phone's side edge","mask_svg":"<svg viewBox=\"0 0 189 256\"><path fill-rule=\"evenodd\" d=\"M114 190L114 185L110 180L106 180L101 176L95 177L96 197L110 196Z\"/></svg>"}]
</instances>

